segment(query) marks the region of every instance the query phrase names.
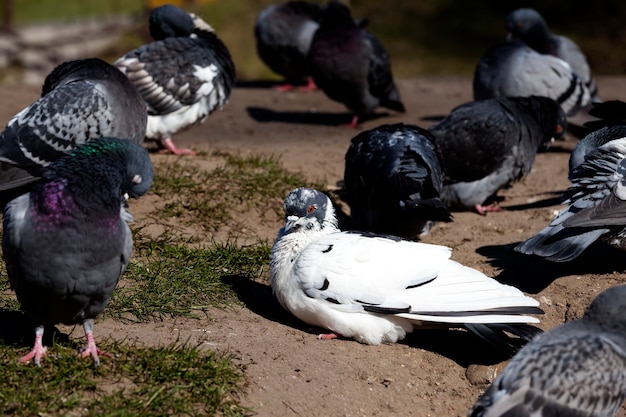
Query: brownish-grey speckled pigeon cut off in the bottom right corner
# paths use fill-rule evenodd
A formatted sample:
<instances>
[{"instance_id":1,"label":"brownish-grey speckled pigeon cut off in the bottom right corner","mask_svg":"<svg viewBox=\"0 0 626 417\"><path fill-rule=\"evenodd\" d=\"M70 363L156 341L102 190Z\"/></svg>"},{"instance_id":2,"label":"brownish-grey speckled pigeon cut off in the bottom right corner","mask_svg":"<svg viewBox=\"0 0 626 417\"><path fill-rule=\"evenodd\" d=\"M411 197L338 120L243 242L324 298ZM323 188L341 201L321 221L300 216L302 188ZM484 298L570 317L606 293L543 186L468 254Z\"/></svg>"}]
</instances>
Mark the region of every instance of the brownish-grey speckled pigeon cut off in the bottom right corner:
<instances>
[{"instance_id":1,"label":"brownish-grey speckled pigeon cut off in the bottom right corner","mask_svg":"<svg viewBox=\"0 0 626 417\"><path fill-rule=\"evenodd\" d=\"M626 285L619 285L581 319L524 346L468 416L616 416L626 399L625 335Z\"/></svg>"}]
</instances>

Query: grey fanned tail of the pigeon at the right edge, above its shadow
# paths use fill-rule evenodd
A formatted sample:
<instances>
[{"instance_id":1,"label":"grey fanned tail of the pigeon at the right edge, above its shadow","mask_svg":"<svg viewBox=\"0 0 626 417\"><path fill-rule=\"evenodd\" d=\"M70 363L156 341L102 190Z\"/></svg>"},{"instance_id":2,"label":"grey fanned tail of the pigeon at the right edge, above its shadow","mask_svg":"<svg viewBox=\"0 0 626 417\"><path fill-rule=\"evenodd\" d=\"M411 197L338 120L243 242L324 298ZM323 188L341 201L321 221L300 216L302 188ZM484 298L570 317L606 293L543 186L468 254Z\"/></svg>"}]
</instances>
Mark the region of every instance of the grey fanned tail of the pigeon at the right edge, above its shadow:
<instances>
[{"instance_id":1,"label":"grey fanned tail of the pigeon at the right edge, above its shadow","mask_svg":"<svg viewBox=\"0 0 626 417\"><path fill-rule=\"evenodd\" d=\"M517 245L515 251L541 256L552 262L568 262L577 258L607 232L609 229L565 228L561 223L550 224L535 236Z\"/></svg>"}]
</instances>

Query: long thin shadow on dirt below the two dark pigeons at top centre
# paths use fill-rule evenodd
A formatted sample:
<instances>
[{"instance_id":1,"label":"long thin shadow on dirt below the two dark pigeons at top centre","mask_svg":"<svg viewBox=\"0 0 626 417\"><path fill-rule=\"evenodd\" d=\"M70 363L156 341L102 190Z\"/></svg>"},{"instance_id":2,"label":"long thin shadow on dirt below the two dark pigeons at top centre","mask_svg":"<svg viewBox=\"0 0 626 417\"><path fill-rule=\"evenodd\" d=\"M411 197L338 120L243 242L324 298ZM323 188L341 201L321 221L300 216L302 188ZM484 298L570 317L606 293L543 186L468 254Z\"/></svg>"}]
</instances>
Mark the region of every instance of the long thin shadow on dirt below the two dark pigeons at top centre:
<instances>
[{"instance_id":1,"label":"long thin shadow on dirt below the two dark pigeons at top centre","mask_svg":"<svg viewBox=\"0 0 626 417\"><path fill-rule=\"evenodd\" d=\"M247 107L248 115L257 122L282 122L309 125L341 126L352 121L353 113L327 113L309 111L274 111L263 107ZM389 113L373 113L359 116L359 122L367 122L381 117L387 117Z\"/></svg>"}]
</instances>

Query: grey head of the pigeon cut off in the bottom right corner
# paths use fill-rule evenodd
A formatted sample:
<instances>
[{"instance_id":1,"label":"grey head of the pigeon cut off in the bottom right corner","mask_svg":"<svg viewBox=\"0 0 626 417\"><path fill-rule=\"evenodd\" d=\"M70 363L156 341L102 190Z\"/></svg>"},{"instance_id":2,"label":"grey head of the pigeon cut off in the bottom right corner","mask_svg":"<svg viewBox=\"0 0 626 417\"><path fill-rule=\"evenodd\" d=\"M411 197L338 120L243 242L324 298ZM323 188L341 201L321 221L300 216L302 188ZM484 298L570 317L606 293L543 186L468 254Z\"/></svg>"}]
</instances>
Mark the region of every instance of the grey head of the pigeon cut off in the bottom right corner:
<instances>
[{"instance_id":1,"label":"grey head of the pigeon cut off in the bottom right corner","mask_svg":"<svg viewBox=\"0 0 626 417\"><path fill-rule=\"evenodd\" d=\"M626 339L626 285L617 285L600 293L585 312L585 319Z\"/></svg>"}]
</instances>

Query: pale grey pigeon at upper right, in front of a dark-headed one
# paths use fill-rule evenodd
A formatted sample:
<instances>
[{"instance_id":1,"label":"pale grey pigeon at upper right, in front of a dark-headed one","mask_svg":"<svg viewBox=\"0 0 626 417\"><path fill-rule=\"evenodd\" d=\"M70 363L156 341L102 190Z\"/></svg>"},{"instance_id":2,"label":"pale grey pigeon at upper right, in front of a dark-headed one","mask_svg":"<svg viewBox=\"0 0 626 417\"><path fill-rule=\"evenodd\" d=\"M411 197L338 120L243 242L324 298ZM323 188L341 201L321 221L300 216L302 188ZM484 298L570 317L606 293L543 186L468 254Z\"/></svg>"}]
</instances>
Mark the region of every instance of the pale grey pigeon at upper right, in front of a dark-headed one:
<instances>
[{"instance_id":1,"label":"pale grey pigeon at upper right, in front of a dark-headed one","mask_svg":"<svg viewBox=\"0 0 626 417\"><path fill-rule=\"evenodd\" d=\"M542 55L519 40L487 49L474 71L473 94L474 100L549 97L568 116L575 116L591 102L590 91L567 62Z\"/></svg>"}]
</instances>

